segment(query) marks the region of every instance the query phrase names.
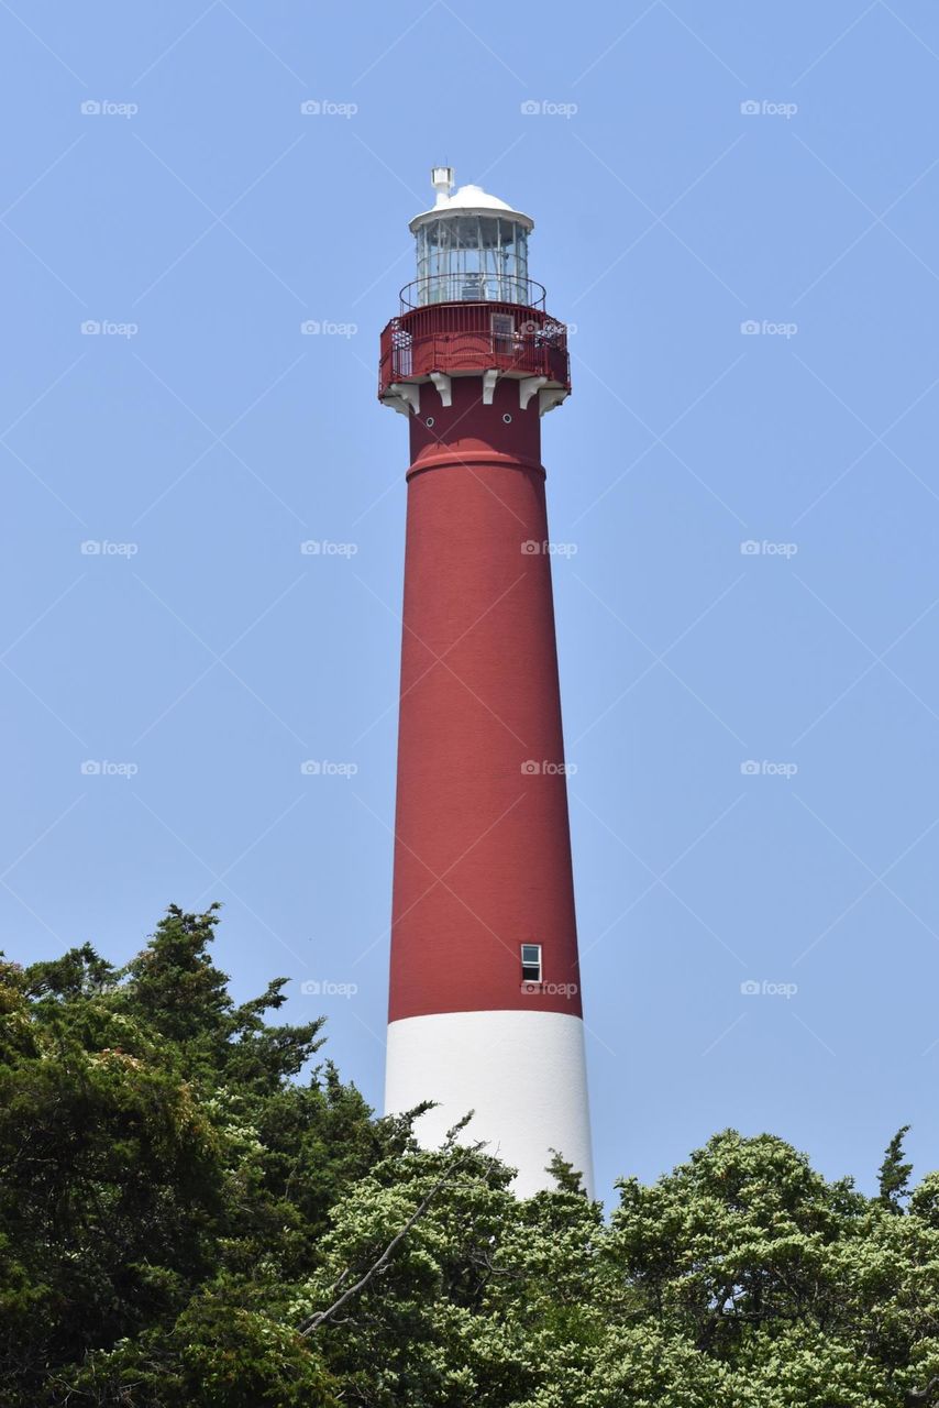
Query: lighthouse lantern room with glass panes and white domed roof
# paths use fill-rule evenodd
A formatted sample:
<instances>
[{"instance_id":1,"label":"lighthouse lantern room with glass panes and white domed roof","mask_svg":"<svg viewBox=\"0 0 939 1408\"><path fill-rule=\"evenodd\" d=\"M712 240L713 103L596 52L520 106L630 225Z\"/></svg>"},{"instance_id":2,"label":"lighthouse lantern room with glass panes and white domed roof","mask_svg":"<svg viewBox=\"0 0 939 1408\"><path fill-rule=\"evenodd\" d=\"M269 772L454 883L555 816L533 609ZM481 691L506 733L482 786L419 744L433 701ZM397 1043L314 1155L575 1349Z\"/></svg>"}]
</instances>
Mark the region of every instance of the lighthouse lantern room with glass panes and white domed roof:
<instances>
[{"instance_id":1,"label":"lighthouse lantern room with glass panes and white domed roof","mask_svg":"<svg viewBox=\"0 0 939 1408\"><path fill-rule=\"evenodd\" d=\"M528 282L529 215L481 186L453 190L453 169L432 170L436 203L410 224L417 239L411 306L432 303L532 303Z\"/></svg>"}]
</instances>

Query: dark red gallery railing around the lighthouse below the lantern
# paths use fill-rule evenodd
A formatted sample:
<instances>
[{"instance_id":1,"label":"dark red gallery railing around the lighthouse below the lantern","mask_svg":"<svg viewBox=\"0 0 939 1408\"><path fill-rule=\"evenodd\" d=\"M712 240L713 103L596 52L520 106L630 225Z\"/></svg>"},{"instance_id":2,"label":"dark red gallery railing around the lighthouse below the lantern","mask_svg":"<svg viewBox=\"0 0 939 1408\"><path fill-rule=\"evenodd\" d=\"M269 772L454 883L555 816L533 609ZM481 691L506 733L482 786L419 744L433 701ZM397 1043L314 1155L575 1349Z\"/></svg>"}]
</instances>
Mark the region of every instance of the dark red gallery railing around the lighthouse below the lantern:
<instances>
[{"instance_id":1,"label":"dark red gallery railing around the lighthouse below the lantern","mask_svg":"<svg viewBox=\"0 0 939 1408\"><path fill-rule=\"evenodd\" d=\"M567 329L539 308L510 303L428 304L391 318L382 334L379 396L431 372L546 376L570 386Z\"/></svg>"}]
</instances>

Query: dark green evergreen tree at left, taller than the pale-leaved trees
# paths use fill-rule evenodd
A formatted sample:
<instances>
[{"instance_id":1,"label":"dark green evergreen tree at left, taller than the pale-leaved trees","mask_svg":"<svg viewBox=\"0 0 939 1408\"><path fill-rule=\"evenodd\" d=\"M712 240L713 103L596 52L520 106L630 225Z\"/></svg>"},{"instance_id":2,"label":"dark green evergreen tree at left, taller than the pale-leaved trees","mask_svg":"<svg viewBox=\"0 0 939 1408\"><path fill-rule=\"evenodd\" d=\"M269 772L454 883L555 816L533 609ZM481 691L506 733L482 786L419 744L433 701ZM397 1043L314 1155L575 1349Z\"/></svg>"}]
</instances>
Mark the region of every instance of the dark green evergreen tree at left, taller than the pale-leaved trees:
<instances>
[{"instance_id":1,"label":"dark green evergreen tree at left, taller than the pale-leaved trees","mask_svg":"<svg viewBox=\"0 0 939 1408\"><path fill-rule=\"evenodd\" d=\"M217 921L170 908L122 970L87 945L0 967L4 1408L170 1404L175 1376L180 1404L228 1401L196 1383L221 1381L213 1353L251 1383L245 1354L293 1343L286 1287L315 1263L329 1207L407 1138L331 1066L298 1079L321 1019L267 1024L284 980L237 1005L210 956ZM308 1390L317 1352L294 1350Z\"/></svg>"}]
</instances>

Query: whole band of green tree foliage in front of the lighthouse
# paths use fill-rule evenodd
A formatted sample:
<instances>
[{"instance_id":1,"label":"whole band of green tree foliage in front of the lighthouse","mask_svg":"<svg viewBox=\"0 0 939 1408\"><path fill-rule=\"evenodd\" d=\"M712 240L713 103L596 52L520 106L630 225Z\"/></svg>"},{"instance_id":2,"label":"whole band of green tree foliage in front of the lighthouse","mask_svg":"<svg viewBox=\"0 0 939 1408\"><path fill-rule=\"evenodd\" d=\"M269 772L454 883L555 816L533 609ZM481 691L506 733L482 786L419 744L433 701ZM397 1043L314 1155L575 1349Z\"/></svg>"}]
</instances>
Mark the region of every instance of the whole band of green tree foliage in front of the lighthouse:
<instances>
[{"instance_id":1,"label":"whole band of green tree foliage in front of the lighthouse","mask_svg":"<svg viewBox=\"0 0 939 1408\"><path fill-rule=\"evenodd\" d=\"M235 1004L217 910L115 969L0 963L4 1408L932 1408L939 1174L717 1135L603 1211L417 1148Z\"/></svg>"}]
</instances>

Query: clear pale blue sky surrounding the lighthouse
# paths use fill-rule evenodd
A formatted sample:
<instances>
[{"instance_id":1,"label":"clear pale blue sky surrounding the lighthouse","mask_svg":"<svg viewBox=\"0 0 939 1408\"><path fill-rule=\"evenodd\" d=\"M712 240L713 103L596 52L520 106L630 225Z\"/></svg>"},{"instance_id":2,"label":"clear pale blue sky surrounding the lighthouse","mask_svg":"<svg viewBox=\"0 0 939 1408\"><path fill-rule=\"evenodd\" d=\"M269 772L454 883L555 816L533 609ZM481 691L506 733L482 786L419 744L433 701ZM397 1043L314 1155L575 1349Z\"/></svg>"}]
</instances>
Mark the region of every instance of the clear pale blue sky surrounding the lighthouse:
<instances>
[{"instance_id":1,"label":"clear pale blue sky surrounding the lighthouse","mask_svg":"<svg viewBox=\"0 0 939 1408\"><path fill-rule=\"evenodd\" d=\"M235 991L289 976L380 1102L377 337L449 162L535 217L573 324L543 431L600 1190L726 1125L869 1187L912 1122L935 1167L935 6L4 0L0 51L7 953L122 960L220 898Z\"/></svg>"}]
</instances>

